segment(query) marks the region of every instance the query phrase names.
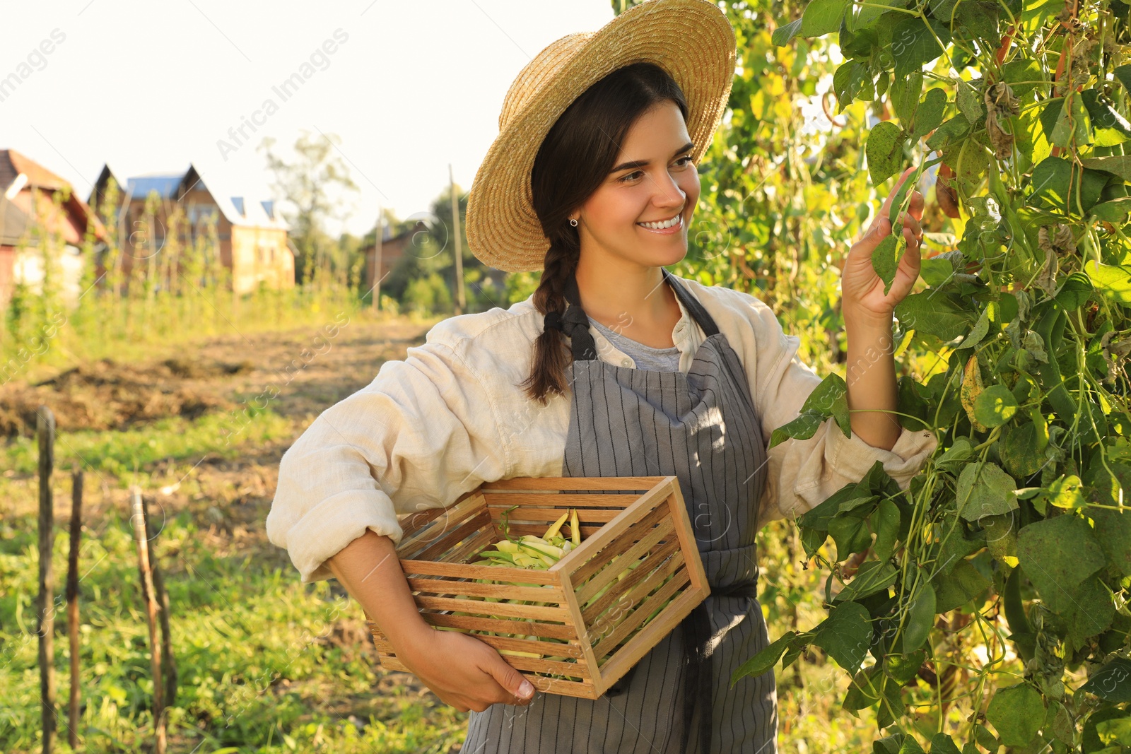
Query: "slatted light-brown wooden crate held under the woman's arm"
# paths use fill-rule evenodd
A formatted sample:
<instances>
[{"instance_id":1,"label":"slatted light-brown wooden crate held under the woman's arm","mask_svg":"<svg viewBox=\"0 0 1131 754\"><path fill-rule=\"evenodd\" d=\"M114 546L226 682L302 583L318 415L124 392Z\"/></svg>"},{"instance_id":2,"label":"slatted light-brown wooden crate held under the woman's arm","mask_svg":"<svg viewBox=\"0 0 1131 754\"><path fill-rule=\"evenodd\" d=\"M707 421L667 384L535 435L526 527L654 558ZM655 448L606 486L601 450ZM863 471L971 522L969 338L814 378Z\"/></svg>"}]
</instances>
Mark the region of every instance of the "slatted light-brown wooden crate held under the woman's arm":
<instances>
[{"instance_id":1,"label":"slatted light-brown wooden crate held under the woman's arm","mask_svg":"<svg viewBox=\"0 0 1131 754\"><path fill-rule=\"evenodd\" d=\"M478 552L503 538L502 514L511 506L517 506L507 513L511 537L541 536L563 512L577 509L581 545L546 571L472 565ZM493 482L446 509L413 514L402 527L397 555L424 619L437 627L506 633L473 635L498 650L534 653L503 657L544 693L597 699L710 593L674 476ZM618 581L639 558L644 562ZM612 586L594 600L606 584ZM381 665L406 670L365 617ZM529 635L568 643L518 638Z\"/></svg>"}]
</instances>

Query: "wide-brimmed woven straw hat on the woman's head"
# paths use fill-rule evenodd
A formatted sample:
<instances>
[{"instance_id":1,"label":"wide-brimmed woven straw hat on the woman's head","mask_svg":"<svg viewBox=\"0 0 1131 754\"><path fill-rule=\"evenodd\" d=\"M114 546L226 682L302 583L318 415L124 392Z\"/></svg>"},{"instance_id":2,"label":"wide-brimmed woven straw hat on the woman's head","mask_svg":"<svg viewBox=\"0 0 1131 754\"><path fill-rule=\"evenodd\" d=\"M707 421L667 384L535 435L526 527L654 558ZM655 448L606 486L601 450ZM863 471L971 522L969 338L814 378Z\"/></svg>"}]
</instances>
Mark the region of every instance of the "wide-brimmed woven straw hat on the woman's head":
<instances>
[{"instance_id":1,"label":"wide-brimmed woven straw hat on the woman's head","mask_svg":"<svg viewBox=\"0 0 1131 754\"><path fill-rule=\"evenodd\" d=\"M510 85L499 136L475 174L467 198L472 253L508 272L542 269L550 240L534 211L534 158L570 103L618 68L651 62L675 79L698 162L731 94L734 51L734 29L709 0L646 0L596 32L551 43Z\"/></svg>"}]
</instances>

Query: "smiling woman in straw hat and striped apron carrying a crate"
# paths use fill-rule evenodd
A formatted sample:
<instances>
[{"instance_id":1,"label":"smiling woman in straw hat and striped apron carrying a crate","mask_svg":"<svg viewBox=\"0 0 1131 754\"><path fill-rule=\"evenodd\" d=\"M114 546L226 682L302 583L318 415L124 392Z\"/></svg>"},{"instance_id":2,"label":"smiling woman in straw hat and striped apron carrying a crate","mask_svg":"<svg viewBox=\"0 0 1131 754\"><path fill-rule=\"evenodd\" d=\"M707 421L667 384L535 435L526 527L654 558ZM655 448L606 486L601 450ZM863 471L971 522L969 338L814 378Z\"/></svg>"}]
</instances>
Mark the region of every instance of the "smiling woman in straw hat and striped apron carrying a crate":
<instances>
[{"instance_id":1,"label":"smiling woman in straw hat and striped apron carrying a crate","mask_svg":"<svg viewBox=\"0 0 1131 754\"><path fill-rule=\"evenodd\" d=\"M827 422L767 451L820 378L762 302L664 269L687 253L696 162L733 71L733 31L706 0L649 0L539 53L508 92L467 210L475 254L542 269L537 291L435 326L283 457L270 539L304 581L337 577L429 688L473 711L464 751L776 751L772 671L729 687L768 643L758 530L875 460L906 488L934 450L886 413L892 309L918 276L917 192L890 292L871 266L890 198L844 267L862 365L852 437ZM627 475L677 476L713 593L607 694L534 694L487 644L424 623L395 557L397 513L500 478Z\"/></svg>"}]
</instances>

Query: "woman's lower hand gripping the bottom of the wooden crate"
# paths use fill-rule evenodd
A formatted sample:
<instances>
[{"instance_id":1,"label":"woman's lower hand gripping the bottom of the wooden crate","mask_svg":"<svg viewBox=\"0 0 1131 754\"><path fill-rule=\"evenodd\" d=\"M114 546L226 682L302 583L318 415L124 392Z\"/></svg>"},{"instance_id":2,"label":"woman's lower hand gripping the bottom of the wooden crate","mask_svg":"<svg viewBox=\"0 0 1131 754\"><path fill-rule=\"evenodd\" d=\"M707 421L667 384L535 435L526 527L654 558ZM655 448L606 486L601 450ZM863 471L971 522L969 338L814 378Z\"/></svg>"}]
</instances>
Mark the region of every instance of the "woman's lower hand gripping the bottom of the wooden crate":
<instances>
[{"instance_id":1,"label":"woman's lower hand gripping the bottom of the wooden crate","mask_svg":"<svg viewBox=\"0 0 1131 754\"><path fill-rule=\"evenodd\" d=\"M428 631L397 656L446 704L482 712L492 704L527 705L534 685L493 647L456 631ZM524 691L529 692L523 695Z\"/></svg>"}]
</instances>

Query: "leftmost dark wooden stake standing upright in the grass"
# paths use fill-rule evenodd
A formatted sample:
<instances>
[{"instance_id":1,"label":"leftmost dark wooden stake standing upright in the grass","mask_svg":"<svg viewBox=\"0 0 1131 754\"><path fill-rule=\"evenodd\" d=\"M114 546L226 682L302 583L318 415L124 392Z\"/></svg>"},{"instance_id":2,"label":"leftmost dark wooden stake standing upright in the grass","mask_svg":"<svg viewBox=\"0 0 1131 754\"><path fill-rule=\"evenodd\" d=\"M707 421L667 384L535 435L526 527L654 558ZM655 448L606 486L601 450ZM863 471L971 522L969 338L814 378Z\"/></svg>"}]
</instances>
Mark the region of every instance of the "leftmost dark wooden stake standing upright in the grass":
<instances>
[{"instance_id":1,"label":"leftmost dark wooden stake standing upright in the grass","mask_svg":"<svg viewBox=\"0 0 1131 754\"><path fill-rule=\"evenodd\" d=\"M51 570L54 548L54 499L51 494L51 474L55 465L55 415L46 406L35 413L35 432L40 444L40 707L43 718L43 754L51 754L55 745L55 676L54 630L55 577Z\"/></svg>"}]
</instances>

